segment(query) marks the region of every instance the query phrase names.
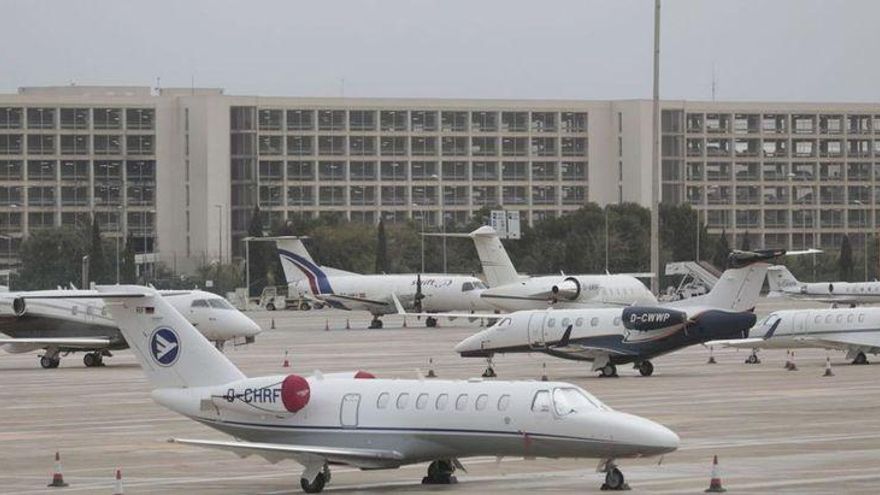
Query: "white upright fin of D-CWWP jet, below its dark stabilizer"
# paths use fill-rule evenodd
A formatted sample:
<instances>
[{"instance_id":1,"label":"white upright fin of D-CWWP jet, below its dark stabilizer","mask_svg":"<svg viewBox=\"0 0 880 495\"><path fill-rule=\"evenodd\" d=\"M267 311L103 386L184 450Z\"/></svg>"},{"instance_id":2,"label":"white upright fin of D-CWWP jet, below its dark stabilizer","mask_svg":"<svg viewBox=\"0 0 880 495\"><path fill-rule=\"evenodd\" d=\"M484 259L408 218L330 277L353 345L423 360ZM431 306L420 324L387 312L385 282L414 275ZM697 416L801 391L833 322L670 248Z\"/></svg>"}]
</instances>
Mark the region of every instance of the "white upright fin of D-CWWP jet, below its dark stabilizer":
<instances>
[{"instance_id":1,"label":"white upright fin of D-CWWP jet, below its dark stabilizer","mask_svg":"<svg viewBox=\"0 0 880 495\"><path fill-rule=\"evenodd\" d=\"M721 274L708 294L676 301L673 306L711 306L731 311L748 311L758 303L767 263L752 263L729 268Z\"/></svg>"}]
</instances>

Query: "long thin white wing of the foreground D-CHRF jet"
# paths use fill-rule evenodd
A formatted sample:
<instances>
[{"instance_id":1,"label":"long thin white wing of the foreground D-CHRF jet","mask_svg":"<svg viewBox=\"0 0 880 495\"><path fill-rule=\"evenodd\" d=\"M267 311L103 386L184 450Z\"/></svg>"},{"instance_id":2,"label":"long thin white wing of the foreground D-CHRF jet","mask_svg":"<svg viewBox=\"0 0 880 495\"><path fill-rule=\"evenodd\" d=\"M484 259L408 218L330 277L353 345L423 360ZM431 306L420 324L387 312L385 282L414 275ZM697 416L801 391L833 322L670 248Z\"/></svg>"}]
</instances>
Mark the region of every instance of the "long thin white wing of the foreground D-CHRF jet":
<instances>
[{"instance_id":1,"label":"long thin white wing of the foreground D-CHRF jet","mask_svg":"<svg viewBox=\"0 0 880 495\"><path fill-rule=\"evenodd\" d=\"M323 465L323 462L326 461L363 468L378 468L396 467L403 461L403 454L396 450L350 449L313 445L191 440L184 438L172 438L168 441L182 445L228 450L242 458L259 455L273 464L285 459L293 459L304 466L314 465L316 461Z\"/></svg>"}]
</instances>

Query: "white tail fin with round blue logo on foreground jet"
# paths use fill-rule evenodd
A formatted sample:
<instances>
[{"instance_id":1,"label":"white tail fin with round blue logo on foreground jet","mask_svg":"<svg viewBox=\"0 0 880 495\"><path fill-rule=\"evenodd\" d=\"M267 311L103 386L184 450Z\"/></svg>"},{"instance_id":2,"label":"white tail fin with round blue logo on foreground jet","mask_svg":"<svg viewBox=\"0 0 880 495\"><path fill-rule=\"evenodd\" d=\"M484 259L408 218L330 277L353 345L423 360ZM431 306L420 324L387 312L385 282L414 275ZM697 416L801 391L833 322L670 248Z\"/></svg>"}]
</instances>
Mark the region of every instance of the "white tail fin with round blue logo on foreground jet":
<instances>
[{"instance_id":1,"label":"white tail fin with round blue logo on foreground jet","mask_svg":"<svg viewBox=\"0 0 880 495\"><path fill-rule=\"evenodd\" d=\"M107 309L154 388L219 385L245 378L155 290L98 286Z\"/></svg>"}]
</instances>

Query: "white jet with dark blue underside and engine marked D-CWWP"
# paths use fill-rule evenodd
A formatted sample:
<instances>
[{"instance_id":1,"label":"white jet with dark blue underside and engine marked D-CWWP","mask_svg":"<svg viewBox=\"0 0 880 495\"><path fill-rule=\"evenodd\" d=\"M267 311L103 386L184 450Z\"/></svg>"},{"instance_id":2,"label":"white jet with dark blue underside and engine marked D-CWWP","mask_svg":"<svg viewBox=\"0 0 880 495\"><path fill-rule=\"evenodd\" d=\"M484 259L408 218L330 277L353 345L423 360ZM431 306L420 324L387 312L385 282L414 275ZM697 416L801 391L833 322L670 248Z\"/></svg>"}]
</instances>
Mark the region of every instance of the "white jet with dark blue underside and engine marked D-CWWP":
<instances>
[{"instance_id":1,"label":"white jet with dark blue underside and engine marked D-CWWP","mask_svg":"<svg viewBox=\"0 0 880 495\"><path fill-rule=\"evenodd\" d=\"M494 376L494 354L542 352L563 359L592 361L593 371L616 376L616 366L634 363L643 376L651 359L722 338L747 337L752 312L771 258L784 251L734 251L732 267L708 294L662 305L627 308L518 311L460 342L463 357L488 358L485 376Z\"/></svg>"}]
</instances>

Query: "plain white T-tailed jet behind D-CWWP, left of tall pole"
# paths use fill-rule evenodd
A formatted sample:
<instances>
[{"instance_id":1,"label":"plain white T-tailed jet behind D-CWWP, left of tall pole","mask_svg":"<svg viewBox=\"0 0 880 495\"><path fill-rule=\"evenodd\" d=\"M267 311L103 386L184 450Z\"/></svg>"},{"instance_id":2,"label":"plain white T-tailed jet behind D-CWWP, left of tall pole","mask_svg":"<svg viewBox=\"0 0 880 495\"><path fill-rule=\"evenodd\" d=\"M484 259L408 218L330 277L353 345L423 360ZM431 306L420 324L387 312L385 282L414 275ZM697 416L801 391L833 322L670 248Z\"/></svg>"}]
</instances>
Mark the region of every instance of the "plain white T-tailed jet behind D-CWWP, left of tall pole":
<instances>
[{"instance_id":1,"label":"plain white T-tailed jet behind D-CWWP, left of tall pole","mask_svg":"<svg viewBox=\"0 0 880 495\"><path fill-rule=\"evenodd\" d=\"M632 275L542 275L516 272L498 233L483 226L470 234L426 234L473 239L489 288L480 297L502 311L657 304L657 298ZM650 274L646 274L650 275Z\"/></svg>"}]
</instances>

